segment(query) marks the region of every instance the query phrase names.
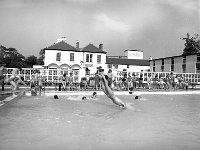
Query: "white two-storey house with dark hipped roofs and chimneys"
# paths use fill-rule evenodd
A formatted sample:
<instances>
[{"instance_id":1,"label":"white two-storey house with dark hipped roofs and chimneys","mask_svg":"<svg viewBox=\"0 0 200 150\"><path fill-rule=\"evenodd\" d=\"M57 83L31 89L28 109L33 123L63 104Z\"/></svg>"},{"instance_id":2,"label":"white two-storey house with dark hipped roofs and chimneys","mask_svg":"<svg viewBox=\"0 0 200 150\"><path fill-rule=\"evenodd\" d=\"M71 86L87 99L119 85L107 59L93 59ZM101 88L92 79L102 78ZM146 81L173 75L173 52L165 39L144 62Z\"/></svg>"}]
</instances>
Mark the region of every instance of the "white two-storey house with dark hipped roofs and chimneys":
<instances>
[{"instance_id":1,"label":"white two-storey house with dark hipped roofs and chimneys","mask_svg":"<svg viewBox=\"0 0 200 150\"><path fill-rule=\"evenodd\" d=\"M103 44L100 44L99 48L93 44L79 48L79 42L76 42L76 47L73 47L65 40L59 39L57 43L44 50L44 66L48 69L90 70L90 73L94 74L97 67L107 67Z\"/></svg>"}]
</instances>

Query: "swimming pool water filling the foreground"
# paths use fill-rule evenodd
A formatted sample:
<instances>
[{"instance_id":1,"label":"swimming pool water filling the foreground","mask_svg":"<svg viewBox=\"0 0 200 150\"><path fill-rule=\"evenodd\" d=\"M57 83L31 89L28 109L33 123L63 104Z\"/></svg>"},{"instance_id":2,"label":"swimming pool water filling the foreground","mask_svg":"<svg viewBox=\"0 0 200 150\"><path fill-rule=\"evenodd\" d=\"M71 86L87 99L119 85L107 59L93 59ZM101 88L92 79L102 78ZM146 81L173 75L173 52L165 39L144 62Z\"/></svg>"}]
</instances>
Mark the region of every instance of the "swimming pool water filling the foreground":
<instances>
[{"instance_id":1,"label":"swimming pool water filling the foreground","mask_svg":"<svg viewBox=\"0 0 200 150\"><path fill-rule=\"evenodd\" d=\"M101 94L88 101L23 96L0 109L0 149L200 149L199 94L118 97L128 109Z\"/></svg>"}]
</instances>

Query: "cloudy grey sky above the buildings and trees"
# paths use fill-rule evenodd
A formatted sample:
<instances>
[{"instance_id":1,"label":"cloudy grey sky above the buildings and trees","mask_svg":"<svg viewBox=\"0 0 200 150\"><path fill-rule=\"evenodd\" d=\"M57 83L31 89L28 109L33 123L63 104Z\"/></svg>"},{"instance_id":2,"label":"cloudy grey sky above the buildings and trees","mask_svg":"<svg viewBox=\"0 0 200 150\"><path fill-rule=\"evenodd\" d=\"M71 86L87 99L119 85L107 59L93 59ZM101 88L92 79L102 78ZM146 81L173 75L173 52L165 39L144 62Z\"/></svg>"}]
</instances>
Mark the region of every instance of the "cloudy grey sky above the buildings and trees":
<instances>
[{"instance_id":1,"label":"cloudy grey sky above the buildings and trees","mask_svg":"<svg viewBox=\"0 0 200 150\"><path fill-rule=\"evenodd\" d=\"M61 37L109 56L177 56L187 33L200 34L200 0L0 0L0 45L26 57Z\"/></svg>"}]
</instances>

